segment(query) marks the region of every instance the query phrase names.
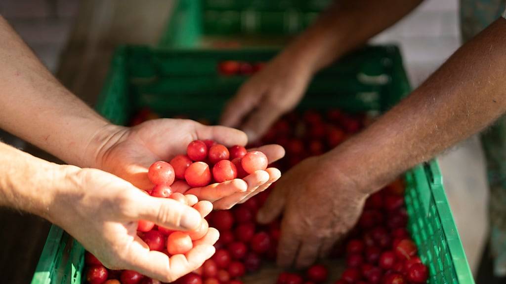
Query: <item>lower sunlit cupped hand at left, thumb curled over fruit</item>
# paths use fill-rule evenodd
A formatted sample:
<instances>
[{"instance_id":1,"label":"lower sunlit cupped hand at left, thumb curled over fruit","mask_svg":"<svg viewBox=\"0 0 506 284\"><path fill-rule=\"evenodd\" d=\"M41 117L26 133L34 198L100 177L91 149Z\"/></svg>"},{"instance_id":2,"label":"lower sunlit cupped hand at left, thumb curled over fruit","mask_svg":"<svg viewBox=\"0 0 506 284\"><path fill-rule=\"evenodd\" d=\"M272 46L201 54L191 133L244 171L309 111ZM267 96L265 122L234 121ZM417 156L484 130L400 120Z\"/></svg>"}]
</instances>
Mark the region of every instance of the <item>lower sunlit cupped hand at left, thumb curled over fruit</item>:
<instances>
[{"instance_id":1,"label":"lower sunlit cupped hand at left, thumb curled over fruit","mask_svg":"<svg viewBox=\"0 0 506 284\"><path fill-rule=\"evenodd\" d=\"M97 169L65 166L63 190L55 194L48 218L64 228L108 268L132 269L164 282L193 271L210 258L219 233L209 228L185 255L168 257L150 251L137 235L139 220L175 230L200 226L212 210L209 202L190 206L172 199L150 197L131 183Z\"/></svg>"}]
</instances>

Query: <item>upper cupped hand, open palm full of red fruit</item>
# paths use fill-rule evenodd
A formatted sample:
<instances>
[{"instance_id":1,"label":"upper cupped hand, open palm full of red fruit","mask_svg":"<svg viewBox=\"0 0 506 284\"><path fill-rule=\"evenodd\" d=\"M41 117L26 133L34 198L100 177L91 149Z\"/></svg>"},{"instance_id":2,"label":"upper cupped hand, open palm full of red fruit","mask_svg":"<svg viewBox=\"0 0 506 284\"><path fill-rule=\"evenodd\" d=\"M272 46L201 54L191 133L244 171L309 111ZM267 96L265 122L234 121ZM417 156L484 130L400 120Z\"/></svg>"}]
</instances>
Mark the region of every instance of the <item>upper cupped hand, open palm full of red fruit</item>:
<instances>
[{"instance_id":1,"label":"upper cupped hand, open palm full of red fruit","mask_svg":"<svg viewBox=\"0 0 506 284\"><path fill-rule=\"evenodd\" d=\"M93 154L89 155L97 157L96 167L143 190L150 190L154 185L147 178L149 166L186 153L188 144L195 139L213 139L227 147L247 142L244 132L237 129L205 126L192 120L156 119L131 128L108 126L96 139L98 143L95 145L100 147L92 147ZM284 156L283 148L277 145L264 146L260 150L264 151L269 162ZM244 180L215 183L188 193L196 195L199 200L214 202L215 209L225 209L243 200L246 194L264 190L279 176L279 170L271 168L250 174Z\"/></svg>"}]
</instances>

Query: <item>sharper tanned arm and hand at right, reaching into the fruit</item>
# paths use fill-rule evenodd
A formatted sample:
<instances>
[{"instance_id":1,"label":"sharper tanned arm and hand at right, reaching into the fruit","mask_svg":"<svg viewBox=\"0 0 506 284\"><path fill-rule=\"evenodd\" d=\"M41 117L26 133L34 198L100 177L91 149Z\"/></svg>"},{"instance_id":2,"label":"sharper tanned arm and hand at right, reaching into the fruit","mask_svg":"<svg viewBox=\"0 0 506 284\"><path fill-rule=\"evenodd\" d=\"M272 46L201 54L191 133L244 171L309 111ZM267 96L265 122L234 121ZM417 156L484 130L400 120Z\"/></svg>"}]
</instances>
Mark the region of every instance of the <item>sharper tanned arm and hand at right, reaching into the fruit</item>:
<instances>
[{"instance_id":1,"label":"sharper tanned arm and hand at right, reaching into the fruit","mask_svg":"<svg viewBox=\"0 0 506 284\"><path fill-rule=\"evenodd\" d=\"M258 219L283 212L281 265L307 266L325 255L356 222L369 194L504 114L504 32L500 18L367 129L276 183Z\"/></svg>"}]
</instances>

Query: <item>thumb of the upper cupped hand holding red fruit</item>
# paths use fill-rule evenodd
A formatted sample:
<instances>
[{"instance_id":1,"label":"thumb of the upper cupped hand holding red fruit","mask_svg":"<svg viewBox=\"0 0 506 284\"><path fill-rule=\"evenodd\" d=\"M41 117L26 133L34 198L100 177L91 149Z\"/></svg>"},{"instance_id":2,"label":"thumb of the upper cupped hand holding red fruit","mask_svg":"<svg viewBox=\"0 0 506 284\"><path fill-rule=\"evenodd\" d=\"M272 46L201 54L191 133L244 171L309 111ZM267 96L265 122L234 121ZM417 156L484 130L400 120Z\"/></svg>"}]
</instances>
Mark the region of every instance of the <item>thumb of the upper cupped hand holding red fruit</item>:
<instances>
[{"instance_id":1,"label":"thumb of the upper cupped hand holding red fruit","mask_svg":"<svg viewBox=\"0 0 506 284\"><path fill-rule=\"evenodd\" d=\"M225 126L205 126L202 124L198 124L195 129L197 133L197 138L204 139L212 139L215 140L219 144L223 144L227 147L234 145L246 145L248 142L248 138L244 132L241 130L225 127Z\"/></svg>"}]
</instances>

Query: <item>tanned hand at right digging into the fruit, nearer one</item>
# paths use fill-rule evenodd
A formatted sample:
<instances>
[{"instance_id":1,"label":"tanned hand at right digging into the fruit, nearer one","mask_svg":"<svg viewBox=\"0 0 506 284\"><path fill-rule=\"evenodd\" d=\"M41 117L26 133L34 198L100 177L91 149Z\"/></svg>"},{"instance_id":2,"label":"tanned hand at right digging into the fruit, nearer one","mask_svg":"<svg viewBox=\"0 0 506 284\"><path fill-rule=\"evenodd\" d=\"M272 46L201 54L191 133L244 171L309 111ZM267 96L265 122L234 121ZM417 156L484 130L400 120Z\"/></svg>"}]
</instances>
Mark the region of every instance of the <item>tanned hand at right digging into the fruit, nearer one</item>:
<instances>
[{"instance_id":1,"label":"tanned hand at right digging into the fruit, nearer one","mask_svg":"<svg viewBox=\"0 0 506 284\"><path fill-rule=\"evenodd\" d=\"M367 194L335 173L325 155L308 158L276 183L257 219L269 223L283 213L278 264L299 268L328 254L353 227Z\"/></svg>"}]
</instances>

